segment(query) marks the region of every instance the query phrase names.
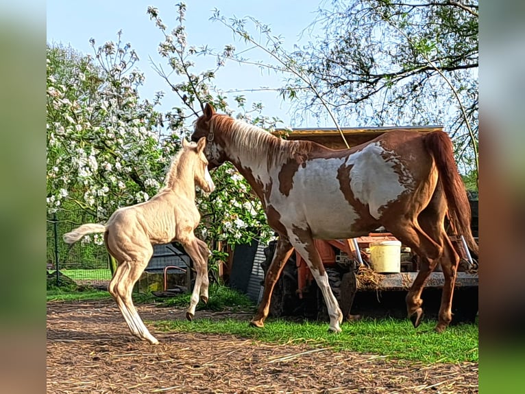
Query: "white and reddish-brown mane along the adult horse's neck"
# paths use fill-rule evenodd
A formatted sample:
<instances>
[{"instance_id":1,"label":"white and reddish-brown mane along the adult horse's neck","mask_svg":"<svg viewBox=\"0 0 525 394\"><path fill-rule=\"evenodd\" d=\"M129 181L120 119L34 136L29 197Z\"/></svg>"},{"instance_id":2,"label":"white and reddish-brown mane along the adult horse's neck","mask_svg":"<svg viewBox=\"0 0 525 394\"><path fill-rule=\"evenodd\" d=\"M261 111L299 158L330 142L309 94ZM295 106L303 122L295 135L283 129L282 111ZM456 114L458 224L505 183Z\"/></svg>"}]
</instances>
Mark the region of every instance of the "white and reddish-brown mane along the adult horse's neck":
<instances>
[{"instance_id":1,"label":"white and reddish-brown mane along the adult horse's neck","mask_svg":"<svg viewBox=\"0 0 525 394\"><path fill-rule=\"evenodd\" d=\"M214 128L222 130L232 144L252 157L266 159L268 165L284 162L289 158L305 157L313 149L311 141L289 141L275 137L267 130L232 119L228 115L215 115Z\"/></svg>"}]
</instances>

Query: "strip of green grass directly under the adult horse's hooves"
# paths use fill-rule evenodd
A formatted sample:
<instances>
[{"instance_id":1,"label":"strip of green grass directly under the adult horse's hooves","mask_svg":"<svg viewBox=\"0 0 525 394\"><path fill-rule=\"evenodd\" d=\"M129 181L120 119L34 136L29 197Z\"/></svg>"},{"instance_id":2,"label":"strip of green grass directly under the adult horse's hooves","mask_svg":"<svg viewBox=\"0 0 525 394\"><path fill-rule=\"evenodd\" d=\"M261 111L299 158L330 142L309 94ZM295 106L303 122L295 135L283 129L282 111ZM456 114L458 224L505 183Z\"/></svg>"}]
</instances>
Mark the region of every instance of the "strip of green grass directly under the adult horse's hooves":
<instances>
[{"instance_id":1,"label":"strip of green grass directly under the adult horse's hooves","mask_svg":"<svg viewBox=\"0 0 525 394\"><path fill-rule=\"evenodd\" d=\"M248 318L247 318L248 319ZM293 323L269 319L262 329L249 327L248 320L155 322L167 332L228 334L269 343L307 344L334 350L358 351L387 358L435 362L478 361L478 325L457 325L444 333L433 331L435 322L424 322L414 329L410 321L364 319L344 323L340 334L328 333L327 323Z\"/></svg>"}]
</instances>

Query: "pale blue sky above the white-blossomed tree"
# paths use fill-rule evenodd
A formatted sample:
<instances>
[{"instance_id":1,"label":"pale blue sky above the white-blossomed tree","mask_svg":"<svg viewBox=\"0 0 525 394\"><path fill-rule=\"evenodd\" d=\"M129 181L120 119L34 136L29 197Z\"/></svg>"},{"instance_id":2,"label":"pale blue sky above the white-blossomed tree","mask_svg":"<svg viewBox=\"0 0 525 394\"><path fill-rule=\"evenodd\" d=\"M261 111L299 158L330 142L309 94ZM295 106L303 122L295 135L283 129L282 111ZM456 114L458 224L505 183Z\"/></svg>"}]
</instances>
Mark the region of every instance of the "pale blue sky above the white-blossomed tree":
<instances>
[{"instance_id":1,"label":"pale blue sky above the white-blossomed tree","mask_svg":"<svg viewBox=\"0 0 525 394\"><path fill-rule=\"evenodd\" d=\"M162 110L168 111L178 105L178 97L171 96L167 83L157 75L152 68L151 60L166 67L166 62L157 52L158 43L162 41L162 34L153 21L149 20L146 11L148 6L158 8L160 18L169 30L178 25L176 21L175 1L151 0L117 1L117 0L48 0L47 1L47 43L71 45L84 54L93 54L90 47L90 38L95 39L95 46L103 45L106 41L117 40L117 32L122 30L122 40L130 43L140 58L136 67L145 73L145 86L139 91L141 98L152 100L156 91L164 91ZM301 34L315 19L315 11L321 0L265 0L265 1L227 1L227 0L199 0L186 1L186 33L188 45L208 47L221 50L225 45L232 44L240 51L245 46L234 38L232 32L219 22L210 21L215 8L227 18L235 16L254 16L258 21L271 27L273 35L284 38L284 47L293 49L293 45L301 45L310 39L310 35ZM255 30L252 30L255 32ZM260 51L252 50L243 56L253 60L264 59ZM151 58L151 60L150 60ZM215 59L199 57L195 72L213 69ZM215 83L223 91L249 90L260 87L282 86L283 76L263 72L258 67L239 65L228 62L217 73ZM239 93L228 93L233 97ZM283 126L290 125L290 104L282 102L278 93L240 93L245 95L247 103L262 102L265 106L263 115L278 117L284 121ZM173 100L171 100L173 97ZM234 107L233 100L230 106ZM296 127L312 127L317 124L292 125Z\"/></svg>"}]
</instances>

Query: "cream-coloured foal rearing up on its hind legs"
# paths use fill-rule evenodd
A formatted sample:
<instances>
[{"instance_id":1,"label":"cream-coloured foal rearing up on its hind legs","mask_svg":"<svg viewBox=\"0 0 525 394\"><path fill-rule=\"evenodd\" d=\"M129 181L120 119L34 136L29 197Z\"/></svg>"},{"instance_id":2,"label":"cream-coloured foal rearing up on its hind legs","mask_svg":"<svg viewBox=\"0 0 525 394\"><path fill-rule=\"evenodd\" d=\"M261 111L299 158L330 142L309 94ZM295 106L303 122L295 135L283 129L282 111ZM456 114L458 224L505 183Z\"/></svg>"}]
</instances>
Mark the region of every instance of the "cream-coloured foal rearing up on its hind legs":
<instances>
[{"instance_id":1,"label":"cream-coloured foal rearing up on its hind legs","mask_svg":"<svg viewBox=\"0 0 525 394\"><path fill-rule=\"evenodd\" d=\"M195 206L195 185L206 193L215 189L204 156L205 146L204 138L197 143L182 139L182 150L173 157L164 187L158 194L147 202L117 209L106 225L83 224L64 234L64 242L73 244L86 234L104 233L106 248L118 263L108 290L132 334L151 344L158 344L158 340L138 316L132 290L153 255L153 245L180 242L195 264L197 275L186 318L192 320L195 316L199 295L202 301L208 302L210 251L193 233L200 221Z\"/></svg>"}]
</instances>

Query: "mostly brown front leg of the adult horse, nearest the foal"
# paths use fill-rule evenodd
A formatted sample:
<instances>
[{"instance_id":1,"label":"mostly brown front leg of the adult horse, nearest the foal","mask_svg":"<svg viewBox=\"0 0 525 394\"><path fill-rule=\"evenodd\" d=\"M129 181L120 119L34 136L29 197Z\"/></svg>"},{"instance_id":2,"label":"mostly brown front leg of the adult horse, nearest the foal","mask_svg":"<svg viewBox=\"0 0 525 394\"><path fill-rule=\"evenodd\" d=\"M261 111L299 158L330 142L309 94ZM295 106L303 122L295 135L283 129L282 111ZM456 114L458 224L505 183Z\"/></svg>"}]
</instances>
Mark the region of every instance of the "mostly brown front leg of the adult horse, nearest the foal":
<instances>
[{"instance_id":1,"label":"mostly brown front leg of the adult horse, nearest the foal","mask_svg":"<svg viewBox=\"0 0 525 394\"><path fill-rule=\"evenodd\" d=\"M266 273L265 288L262 290L262 299L260 300L257 313L252 318L252 321L249 322L250 325L253 325L254 327L265 326L265 320L268 317L270 310L273 287L276 286L282 268L284 268L284 264L289 259L292 252L293 248L288 237L280 234L277 241L276 251L273 254L273 259L271 260L271 264Z\"/></svg>"}]
</instances>

